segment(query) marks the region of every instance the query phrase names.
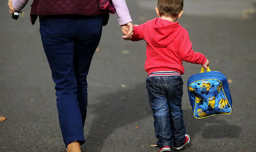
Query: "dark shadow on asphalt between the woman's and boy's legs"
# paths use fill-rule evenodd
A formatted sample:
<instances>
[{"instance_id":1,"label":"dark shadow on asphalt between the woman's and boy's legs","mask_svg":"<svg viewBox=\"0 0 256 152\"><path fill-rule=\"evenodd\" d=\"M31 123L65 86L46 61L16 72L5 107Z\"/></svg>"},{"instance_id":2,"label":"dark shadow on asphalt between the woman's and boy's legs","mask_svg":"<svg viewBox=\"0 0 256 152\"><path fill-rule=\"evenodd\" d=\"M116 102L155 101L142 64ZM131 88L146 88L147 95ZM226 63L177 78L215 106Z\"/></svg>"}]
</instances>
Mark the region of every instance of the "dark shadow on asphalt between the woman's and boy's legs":
<instances>
[{"instance_id":1,"label":"dark shadow on asphalt between the woman's and boy's legs","mask_svg":"<svg viewBox=\"0 0 256 152\"><path fill-rule=\"evenodd\" d=\"M90 106L90 113L96 117L86 139L87 150L101 152L105 139L116 129L151 115L144 83L133 89L121 88L99 99L98 104Z\"/></svg>"}]
</instances>

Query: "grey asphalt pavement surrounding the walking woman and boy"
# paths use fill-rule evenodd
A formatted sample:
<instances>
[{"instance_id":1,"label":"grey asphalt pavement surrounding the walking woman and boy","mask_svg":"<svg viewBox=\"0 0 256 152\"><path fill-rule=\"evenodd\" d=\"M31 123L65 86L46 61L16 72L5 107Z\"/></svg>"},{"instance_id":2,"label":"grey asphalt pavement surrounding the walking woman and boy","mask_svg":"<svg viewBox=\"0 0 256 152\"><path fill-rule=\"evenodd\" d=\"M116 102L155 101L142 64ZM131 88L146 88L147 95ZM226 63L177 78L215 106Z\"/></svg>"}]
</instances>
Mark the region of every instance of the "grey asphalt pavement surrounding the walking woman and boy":
<instances>
[{"instance_id":1,"label":"grey asphalt pavement surrounding the walking woman and boy","mask_svg":"<svg viewBox=\"0 0 256 152\"><path fill-rule=\"evenodd\" d=\"M0 2L0 152L65 152L56 96L29 2L17 21ZM156 0L127 0L134 24L156 17ZM199 65L184 63L183 110L191 143L182 152L256 152L256 0L185 0L178 20L194 51L230 79L231 115L196 119L187 79ZM116 15L103 28L88 76L83 152L157 152L145 90L145 42L122 40ZM137 127L137 128L136 128Z\"/></svg>"}]
</instances>

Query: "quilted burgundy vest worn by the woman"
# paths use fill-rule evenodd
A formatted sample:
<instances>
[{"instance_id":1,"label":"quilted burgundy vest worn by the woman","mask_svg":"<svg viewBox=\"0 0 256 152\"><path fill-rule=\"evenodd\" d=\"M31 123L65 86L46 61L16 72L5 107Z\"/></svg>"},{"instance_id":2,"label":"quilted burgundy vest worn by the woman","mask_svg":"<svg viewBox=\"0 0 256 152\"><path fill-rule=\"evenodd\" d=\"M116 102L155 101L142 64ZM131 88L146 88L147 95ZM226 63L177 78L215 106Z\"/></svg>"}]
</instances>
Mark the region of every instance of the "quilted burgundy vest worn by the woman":
<instances>
[{"instance_id":1,"label":"quilted burgundy vest worn by the woman","mask_svg":"<svg viewBox=\"0 0 256 152\"><path fill-rule=\"evenodd\" d=\"M30 11L31 23L35 24L38 15L78 14L95 16L109 11L99 9L100 0L33 0Z\"/></svg>"}]
</instances>

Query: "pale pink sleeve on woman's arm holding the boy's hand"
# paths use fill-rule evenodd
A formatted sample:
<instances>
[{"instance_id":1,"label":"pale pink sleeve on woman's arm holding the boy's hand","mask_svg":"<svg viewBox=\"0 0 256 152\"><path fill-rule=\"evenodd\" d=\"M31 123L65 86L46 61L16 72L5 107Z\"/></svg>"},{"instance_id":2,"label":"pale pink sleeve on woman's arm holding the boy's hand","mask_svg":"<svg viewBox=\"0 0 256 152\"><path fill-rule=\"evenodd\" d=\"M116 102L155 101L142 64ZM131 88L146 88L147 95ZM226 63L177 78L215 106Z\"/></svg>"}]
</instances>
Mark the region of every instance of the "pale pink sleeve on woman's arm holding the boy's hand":
<instances>
[{"instance_id":1,"label":"pale pink sleeve on woman's arm holding the boy's hand","mask_svg":"<svg viewBox=\"0 0 256 152\"><path fill-rule=\"evenodd\" d=\"M125 0L112 0L112 2L116 8L119 25L125 25L129 22L132 22Z\"/></svg>"}]
</instances>

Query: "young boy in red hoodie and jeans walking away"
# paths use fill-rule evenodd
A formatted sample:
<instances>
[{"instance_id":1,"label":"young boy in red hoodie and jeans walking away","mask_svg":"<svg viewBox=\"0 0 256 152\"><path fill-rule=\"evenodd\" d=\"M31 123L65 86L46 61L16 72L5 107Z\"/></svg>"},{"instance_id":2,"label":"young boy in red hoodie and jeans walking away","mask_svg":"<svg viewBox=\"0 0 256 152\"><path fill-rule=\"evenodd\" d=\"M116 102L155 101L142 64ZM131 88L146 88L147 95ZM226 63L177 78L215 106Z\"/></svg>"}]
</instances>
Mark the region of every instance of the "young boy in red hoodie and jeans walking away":
<instances>
[{"instance_id":1,"label":"young boy in red hoodie and jeans walking away","mask_svg":"<svg viewBox=\"0 0 256 152\"><path fill-rule=\"evenodd\" d=\"M209 66L201 53L192 50L187 30L177 21L183 13L183 0L158 0L159 18L134 26L131 41L147 42L145 71L149 103L153 110L159 152L181 150L190 141L186 133L181 101L183 61Z\"/></svg>"}]
</instances>

